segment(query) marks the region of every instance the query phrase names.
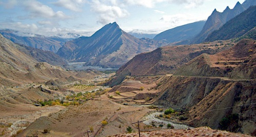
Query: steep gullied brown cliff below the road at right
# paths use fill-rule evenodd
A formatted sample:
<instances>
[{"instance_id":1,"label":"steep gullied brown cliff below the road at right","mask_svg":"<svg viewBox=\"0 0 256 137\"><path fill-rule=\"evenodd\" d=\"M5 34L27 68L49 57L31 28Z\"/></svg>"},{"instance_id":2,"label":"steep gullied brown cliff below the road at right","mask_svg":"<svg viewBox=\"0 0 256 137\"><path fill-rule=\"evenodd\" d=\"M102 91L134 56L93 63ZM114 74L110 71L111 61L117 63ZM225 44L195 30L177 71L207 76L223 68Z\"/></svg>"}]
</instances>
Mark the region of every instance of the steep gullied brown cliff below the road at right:
<instances>
[{"instance_id":1,"label":"steep gullied brown cliff below the road at right","mask_svg":"<svg viewBox=\"0 0 256 137\"><path fill-rule=\"evenodd\" d=\"M255 80L164 76L159 83L162 93L154 104L188 109L186 122L191 126L222 128L223 118L238 115L236 125L228 123L225 130L249 134L255 130Z\"/></svg>"}]
</instances>

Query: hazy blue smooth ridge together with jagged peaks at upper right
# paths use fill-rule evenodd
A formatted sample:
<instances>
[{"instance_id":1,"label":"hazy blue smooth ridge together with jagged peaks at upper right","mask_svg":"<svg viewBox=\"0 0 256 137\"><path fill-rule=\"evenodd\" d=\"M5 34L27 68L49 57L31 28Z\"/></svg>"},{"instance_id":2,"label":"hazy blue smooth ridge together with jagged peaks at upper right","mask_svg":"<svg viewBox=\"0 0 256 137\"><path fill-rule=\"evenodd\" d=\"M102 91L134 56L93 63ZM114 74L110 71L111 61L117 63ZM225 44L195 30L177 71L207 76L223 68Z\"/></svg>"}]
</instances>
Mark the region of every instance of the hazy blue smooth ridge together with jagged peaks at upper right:
<instances>
[{"instance_id":1,"label":"hazy blue smooth ridge together with jagged peaks at upper right","mask_svg":"<svg viewBox=\"0 0 256 137\"><path fill-rule=\"evenodd\" d=\"M244 12L250 6L255 5L255 1L246 0L243 4L238 2L233 9L230 9L227 6L223 12L218 12L215 9L204 23L194 22L178 26L177 28L164 31L156 35L154 39L167 40L169 42L173 42L173 45L204 42L210 33L220 29L227 21Z\"/></svg>"}]
</instances>

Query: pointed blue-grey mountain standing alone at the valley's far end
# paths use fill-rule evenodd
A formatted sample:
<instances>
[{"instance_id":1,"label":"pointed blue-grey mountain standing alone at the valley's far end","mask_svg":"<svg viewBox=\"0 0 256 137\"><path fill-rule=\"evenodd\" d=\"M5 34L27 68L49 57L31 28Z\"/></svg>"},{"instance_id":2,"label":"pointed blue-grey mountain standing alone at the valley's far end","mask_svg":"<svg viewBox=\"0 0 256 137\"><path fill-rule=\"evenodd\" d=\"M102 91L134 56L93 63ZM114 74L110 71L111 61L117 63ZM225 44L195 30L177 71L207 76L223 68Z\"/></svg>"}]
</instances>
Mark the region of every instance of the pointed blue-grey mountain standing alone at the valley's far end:
<instances>
[{"instance_id":1,"label":"pointed blue-grey mountain standing alone at the valley's far end","mask_svg":"<svg viewBox=\"0 0 256 137\"><path fill-rule=\"evenodd\" d=\"M57 54L71 62L117 68L141 52L164 45L152 39L138 39L122 31L116 22L109 23L91 37L80 37L67 42Z\"/></svg>"}]
</instances>

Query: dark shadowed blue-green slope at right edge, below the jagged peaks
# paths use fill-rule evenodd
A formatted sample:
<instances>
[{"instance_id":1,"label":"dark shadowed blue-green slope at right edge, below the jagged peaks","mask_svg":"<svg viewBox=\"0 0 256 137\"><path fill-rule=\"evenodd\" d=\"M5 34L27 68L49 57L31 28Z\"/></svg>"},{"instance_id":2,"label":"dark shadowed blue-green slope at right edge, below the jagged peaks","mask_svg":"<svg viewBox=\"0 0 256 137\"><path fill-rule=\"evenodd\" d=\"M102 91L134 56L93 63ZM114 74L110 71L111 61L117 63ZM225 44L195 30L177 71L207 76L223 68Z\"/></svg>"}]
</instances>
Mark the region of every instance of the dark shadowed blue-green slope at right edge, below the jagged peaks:
<instances>
[{"instance_id":1,"label":"dark shadowed blue-green slope at right edge, below the jagged peaks","mask_svg":"<svg viewBox=\"0 0 256 137\"><path fill-rule=\"evenodd\" d=\"M255 15L256 6L252 6L229 20L219 30L209 34L205 41L228 40L243 36L256 26Z\"/></svg>"}]
</instances>

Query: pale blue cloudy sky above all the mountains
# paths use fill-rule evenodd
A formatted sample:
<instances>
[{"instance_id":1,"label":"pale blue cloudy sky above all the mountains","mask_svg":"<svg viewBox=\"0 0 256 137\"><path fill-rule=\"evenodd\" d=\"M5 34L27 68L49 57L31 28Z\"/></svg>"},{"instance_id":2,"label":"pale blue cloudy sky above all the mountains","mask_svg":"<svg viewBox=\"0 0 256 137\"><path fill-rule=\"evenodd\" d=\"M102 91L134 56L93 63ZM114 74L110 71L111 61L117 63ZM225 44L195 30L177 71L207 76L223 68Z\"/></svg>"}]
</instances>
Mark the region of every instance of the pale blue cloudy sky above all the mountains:
<instances>
[{"instance_id":1,"label":"pale blue cloudy sky above all the mountains","mask_svg":"<svg viewBox=\"0 0 256 137\"><path fill-rule=\"evenodd\" d=\"M245 0L0 0L0 29L19 35L91 36L117 22L125 32L159 34L176 26L206 20ZM21 33L23 32L23 33Z\"/></svg>"}]
</instances>

